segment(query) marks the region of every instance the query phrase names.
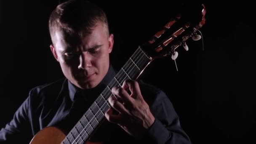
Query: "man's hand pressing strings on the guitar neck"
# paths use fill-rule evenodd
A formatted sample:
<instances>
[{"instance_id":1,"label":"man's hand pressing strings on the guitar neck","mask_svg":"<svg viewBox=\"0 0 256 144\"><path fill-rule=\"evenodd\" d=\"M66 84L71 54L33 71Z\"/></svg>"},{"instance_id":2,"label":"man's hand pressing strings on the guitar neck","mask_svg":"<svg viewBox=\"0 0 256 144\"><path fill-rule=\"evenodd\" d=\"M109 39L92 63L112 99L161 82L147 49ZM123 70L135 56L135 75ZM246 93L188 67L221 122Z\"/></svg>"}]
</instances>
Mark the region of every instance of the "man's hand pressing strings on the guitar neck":
<instances>
[{"instance_id":1,"label":"man's hand pressing strings on the guitar neck","mask_svg":"<svg viewBox=\"0 0 256 144\"><path fill-rule=\"evenodd\" d=\"M131 94L126 89L129 89ZM112 93L115 96L110 96L108 101L119 114L113 114L113 109L110 108L105 113L107 120L120 125L132 136L141 137L154 123L155 117L141 95L139 83L135 80L125 80L122 87L113 87Z\"/></svg>"}]
</instances>

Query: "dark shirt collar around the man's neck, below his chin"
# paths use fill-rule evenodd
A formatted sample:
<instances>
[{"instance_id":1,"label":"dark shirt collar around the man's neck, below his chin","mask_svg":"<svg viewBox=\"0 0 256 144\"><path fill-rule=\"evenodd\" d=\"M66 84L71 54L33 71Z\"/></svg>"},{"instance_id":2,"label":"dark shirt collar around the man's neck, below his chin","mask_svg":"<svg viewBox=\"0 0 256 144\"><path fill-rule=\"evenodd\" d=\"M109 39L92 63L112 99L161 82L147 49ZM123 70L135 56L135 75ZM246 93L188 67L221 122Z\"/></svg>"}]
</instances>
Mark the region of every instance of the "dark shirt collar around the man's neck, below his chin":
<instances>
[{"instance_id":1,"label":"dark shirt collar around the man's neck, below his chin","mask_svg":"<svg viewBox=\"0 0 256 144\"><path fill-rule=\"evenodd\" d=\"M72 101L74 101L74 97L75 94L78 91L83 91L84 93L87 92L92 92L92 91L103 91L104 88L110 83L110 81L115 77L115 70L113 69L112 65L109 66L109 70L107 72L107 75L105 75L105 77L103 78L103 80L101 81L101 83L99 83L99 85L97 85L95 88L91 88L88 90L83 90L81 88L78 88L77 86L75 86L74 84L72 84L69 80L68 80L68 89L69 89L69 97Z\"/></svg>"}]
</instances>

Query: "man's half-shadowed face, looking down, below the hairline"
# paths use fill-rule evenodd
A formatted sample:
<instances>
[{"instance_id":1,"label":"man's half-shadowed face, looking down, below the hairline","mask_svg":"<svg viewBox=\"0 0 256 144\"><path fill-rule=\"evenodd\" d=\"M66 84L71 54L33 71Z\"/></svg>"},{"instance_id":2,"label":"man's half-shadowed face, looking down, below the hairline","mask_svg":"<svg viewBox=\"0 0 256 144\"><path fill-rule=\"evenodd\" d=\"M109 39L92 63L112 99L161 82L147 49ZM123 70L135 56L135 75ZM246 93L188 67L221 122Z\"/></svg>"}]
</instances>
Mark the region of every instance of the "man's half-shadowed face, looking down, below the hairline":
<instances>
[{"instance_id":1,"label":"man's half-shadowed face, looking down, below the hairline","mask_svg":"<svg viewBox=\"0 0 256 144\"><path fill-rule=\"evenodd\" d=\"M67 79L77 87L94 88L107 74L114 41L103 24L98 23L85 37L56 31L53 40L55 48L51 45L51 51L54 57Z\"/></svg>"}]
</instances>

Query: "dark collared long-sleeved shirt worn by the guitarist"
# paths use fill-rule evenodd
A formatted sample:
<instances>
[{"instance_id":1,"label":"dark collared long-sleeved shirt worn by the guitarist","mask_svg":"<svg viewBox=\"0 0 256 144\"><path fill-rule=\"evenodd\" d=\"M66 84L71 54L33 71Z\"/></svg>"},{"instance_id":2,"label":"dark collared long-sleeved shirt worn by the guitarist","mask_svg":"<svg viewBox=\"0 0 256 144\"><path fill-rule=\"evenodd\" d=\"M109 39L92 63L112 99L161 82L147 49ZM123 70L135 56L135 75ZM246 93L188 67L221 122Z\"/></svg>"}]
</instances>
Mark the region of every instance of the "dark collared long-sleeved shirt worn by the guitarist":
<instances>
[{"instance_id":1,"label":"dark collared long-sleeved shirt worn by the guitarist","mask_svg":"<svg viewBox=\"0 0 256 144\"><path fill-rule=\"evenodd\" d=\"M49 126L69 132L115 74L114 69L110 67L101 83L90 90L81 90L66 78L33 88L11 122L1 129L0 144L28 144L36 133ZM118 125L106 121L91 140L98 139L109 144L190 144L189 137L181 128L179 117L165 93L141 81L139 85L145 101L155 116L155 122L147 134L136 140Z\"/></svg>"}]
</instances>

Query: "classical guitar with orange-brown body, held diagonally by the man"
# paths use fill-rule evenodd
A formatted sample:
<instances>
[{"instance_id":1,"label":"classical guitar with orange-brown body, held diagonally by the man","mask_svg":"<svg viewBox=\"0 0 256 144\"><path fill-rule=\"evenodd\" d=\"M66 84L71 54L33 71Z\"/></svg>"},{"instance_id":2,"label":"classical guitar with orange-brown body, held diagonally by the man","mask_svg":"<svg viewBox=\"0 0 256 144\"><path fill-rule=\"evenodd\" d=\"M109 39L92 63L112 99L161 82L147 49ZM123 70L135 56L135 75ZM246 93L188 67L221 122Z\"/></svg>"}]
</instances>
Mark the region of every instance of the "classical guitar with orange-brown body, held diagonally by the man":
<instances>
[{"instance_id":1,"label":"classical guitar with orange-brown body, held diagonally by the man","mask_svg":"<svg viewBox=\"0 0 256 144\"><path fill-rule=\"evenodd\" d=\"M187 40L199 40L201 37L198 32L205 24L204 5L200 5L199 12L198 20L191 16L177 15L156 32L152 39L140 45L69 133L56 127L43 128L30 144L96 144L90 138L104 120L104 113L110 108L107 99L112 95L112 87L121 85L126 79L136 80L155 59L171 56L175 60L179 47L183 46L187 51Z\"/></svg>"}]
</instances>

